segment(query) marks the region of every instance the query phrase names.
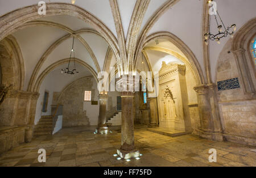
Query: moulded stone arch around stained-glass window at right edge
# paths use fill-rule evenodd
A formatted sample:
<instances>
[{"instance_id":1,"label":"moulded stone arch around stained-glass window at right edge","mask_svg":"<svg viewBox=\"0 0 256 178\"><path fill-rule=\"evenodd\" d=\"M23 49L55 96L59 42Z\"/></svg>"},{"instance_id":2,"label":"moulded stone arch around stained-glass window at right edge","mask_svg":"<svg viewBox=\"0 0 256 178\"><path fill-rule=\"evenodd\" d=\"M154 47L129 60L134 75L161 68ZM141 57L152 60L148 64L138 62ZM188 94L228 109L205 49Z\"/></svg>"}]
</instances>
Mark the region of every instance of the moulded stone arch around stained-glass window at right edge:
<instances>
[{"instance_id":1,"label":"moulded stone arch around stained-glass window at right edge","mask_svg":"<svg viewBox=\"0 0 256 178\"><path fill-rule=\"evenodd\" d=\"M243 92L255 95L256 70L250 54L250 42L256 35L256 18L249 20L234 35L231 50L240 73ZM247 52L246 52L247 50Z\"/></svg>"}]
</instances>

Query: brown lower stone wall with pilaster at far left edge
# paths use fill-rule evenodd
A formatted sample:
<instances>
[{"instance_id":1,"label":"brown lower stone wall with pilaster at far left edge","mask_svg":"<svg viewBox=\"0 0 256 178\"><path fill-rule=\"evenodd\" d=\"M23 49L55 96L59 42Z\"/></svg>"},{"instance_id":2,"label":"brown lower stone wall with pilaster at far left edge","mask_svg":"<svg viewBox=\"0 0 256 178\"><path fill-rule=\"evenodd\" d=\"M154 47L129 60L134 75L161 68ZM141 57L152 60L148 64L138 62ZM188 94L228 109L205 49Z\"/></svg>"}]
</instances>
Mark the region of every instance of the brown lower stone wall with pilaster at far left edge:
<instances>
[{"instance_id":1,"label":"brown lower stone wall with pilaster at far left edge","mask_svg":"<svg viewBox=\"0 0 256 178\"><path fill-rule=\"evenodd\" d=\"M9 90L0 105L0 154L30 142L38 94Z\"/></svg>"}]
</instances>

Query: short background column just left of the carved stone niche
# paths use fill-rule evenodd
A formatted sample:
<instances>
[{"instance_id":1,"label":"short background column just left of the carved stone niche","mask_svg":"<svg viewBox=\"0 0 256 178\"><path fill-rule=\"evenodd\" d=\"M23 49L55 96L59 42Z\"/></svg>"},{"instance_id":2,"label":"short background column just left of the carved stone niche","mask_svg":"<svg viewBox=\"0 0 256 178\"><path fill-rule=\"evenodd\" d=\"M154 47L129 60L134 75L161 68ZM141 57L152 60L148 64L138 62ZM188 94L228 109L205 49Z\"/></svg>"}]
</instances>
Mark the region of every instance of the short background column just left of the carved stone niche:
<instances>
[{"instance_id":1,"label":"short background column just left of the carved stone niche","mask_svg":"<svg viewBox=\"0 0 256 178\"><path fill-rule=\"evenodd\" d=\"M150 125L149 128L158 127L158 108L157 108L157 98L148 98L150 104Z\"/></svg>"}]
</instances>

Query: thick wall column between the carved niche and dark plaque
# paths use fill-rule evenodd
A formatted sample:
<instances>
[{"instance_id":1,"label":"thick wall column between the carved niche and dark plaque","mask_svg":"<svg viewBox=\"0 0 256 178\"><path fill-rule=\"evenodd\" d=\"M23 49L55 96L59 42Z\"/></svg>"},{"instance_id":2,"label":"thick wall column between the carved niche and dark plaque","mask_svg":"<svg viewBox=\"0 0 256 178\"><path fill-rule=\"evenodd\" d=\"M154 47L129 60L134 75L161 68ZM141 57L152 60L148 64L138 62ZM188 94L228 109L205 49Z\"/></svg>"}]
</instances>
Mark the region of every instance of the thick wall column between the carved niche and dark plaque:
<instances>
[{"instance_id":1,"label":"thick wall column between the carved niche and dark plaque","mask_svg":"<svg viewBox=\"0 0 256 178\"><path fill-rule=\"evenodd\" d=\"M212 87L212 86L210 86ZM210 98L212 95L209 87L205 84L194 87L197 93L197 102L199 107L200 124L201 128L196 130L195 134L200 135L200 137L223 141L222 132L220 129L220 118L214 112L214 101L211 102Z\"/></svg>"}]
</instances>

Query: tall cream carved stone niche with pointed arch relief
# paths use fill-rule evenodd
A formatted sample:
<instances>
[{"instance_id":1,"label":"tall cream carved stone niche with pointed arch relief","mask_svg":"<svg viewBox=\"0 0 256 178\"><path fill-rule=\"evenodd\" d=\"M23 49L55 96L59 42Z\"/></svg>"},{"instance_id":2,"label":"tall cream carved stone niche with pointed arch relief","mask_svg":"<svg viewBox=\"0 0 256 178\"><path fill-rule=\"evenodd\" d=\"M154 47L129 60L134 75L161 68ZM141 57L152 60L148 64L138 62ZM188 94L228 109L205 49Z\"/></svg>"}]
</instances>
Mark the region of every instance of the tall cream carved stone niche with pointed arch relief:
<instances>
[{"instance_id":1,"label":"tall cream carved stone niche with pointed arch relief","mask_svg":"<svg viewBox=\"0 0 256 178\"><path fill-rule=\"evenodd\" d=\"M159 127L184 131L185 65L162 63L159 71Z\"/></svg>"}]
</instances>

